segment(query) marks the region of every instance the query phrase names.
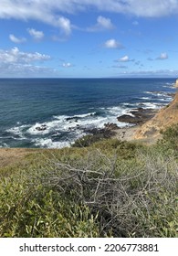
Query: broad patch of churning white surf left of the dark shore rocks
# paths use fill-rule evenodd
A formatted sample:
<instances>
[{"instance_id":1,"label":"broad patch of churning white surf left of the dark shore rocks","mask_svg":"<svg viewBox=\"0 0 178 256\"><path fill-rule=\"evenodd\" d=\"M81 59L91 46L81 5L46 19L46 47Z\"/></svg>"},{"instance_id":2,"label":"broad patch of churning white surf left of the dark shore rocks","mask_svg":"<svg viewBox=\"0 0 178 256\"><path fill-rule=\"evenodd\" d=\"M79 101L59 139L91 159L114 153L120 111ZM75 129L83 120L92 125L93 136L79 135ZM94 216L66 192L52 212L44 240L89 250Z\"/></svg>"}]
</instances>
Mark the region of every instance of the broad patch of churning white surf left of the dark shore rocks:
<instances>
[{"instance_id":1,"label":"broad patch of churning white surf left of the dark shore rocks","mask_svg":"<svg viewBox=\"0 0 178 256\"><path fill-rule=\"evenodd\" d=\"M13 141L26 140L31 146L61 148L73 144L77 139L91 133L92 129L104 128L106 123L116 123L119 127L130 125L120 123L117 117L131 114L131 109L124 106L99 108L96 112L76 115L53 115L50 121L34 124L20 124L7 129ZM20 125L19 125L20 124ZM90 132L89 132L90 131Z\"/></svg>"}]
</instances>

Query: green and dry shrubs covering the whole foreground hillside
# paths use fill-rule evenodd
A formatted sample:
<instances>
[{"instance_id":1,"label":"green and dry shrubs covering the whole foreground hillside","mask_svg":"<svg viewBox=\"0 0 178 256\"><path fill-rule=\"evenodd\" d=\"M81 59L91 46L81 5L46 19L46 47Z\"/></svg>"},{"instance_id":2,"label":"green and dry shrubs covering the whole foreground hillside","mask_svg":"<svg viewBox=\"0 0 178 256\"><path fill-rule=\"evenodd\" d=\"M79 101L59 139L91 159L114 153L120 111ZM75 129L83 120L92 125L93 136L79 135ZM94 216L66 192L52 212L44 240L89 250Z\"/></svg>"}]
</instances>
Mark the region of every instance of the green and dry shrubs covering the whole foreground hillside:
<instances>
[{"instance_id":1,"label":"green and dry shrubs covering the whole foreground hillside","mask_svg":"<svg viewBox=\"0 0 178 256\"><path fill-rule=\"evenodd\" d=\"M29 152L0 167L0 237L177 237L178 126Z\"/></svg>"}]
</instances>

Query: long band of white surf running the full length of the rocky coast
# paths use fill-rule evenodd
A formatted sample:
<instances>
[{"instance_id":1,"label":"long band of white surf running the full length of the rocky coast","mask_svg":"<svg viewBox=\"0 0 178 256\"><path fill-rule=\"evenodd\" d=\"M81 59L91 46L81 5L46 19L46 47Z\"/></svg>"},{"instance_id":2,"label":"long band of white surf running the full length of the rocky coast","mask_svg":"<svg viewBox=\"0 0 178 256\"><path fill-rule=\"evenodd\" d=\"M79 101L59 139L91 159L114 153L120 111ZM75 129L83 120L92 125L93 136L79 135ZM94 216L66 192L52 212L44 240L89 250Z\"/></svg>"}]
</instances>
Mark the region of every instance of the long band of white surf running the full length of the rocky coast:
<instances>
[{"instance_id":1,"label":"long band of white surf running the full length of the rocky coast","mask_svg":"<svg viewBox=\"0 0 178 256\"><path fill-rule=\"evenodd\" d=\"M52 115L51 119L45 122L16 123L14 127L5 131L6 137L11 137L16 144L18 141L23 143L24 140L24 143L31 147L61 148L70 146L80 137L92 133L92 129L104 128L106 123L116 123L120 128L131 126L130 123L119 122L117 117L123 114L132 116L131 111L134 109L160 109L167 101L172 100L170 95L164 98L167 94L158 91L148 91L148 93L152 93L154 96L156 94L157 98L143 96L135 103L124 102L118 106L90 108L89 112L74 115ZM10 138L7 138L6 141L9 142ZM6 141L4 140L5 143Z\"/></svg>"}]
</instances>

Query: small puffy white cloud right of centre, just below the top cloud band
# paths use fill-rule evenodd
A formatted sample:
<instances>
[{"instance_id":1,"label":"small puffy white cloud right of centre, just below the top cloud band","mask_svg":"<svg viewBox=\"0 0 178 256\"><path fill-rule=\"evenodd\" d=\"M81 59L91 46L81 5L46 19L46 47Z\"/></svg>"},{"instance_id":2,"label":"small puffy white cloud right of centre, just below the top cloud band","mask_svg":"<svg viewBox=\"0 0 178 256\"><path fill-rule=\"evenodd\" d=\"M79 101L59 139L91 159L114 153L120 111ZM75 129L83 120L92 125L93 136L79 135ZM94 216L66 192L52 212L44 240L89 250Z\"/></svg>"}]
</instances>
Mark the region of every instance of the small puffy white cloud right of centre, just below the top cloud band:
<instances>
[{"instance_id":1,"label":"small puffy white cloud right of centre, just below the top cloud band","mask_svg":"<svg viewBox=\"0 0 178 256\"><path fill-rule=\"evenodd\" d=\"M111 23L110 18L104 17L104 16L98 16L97 18L97 24L93 27L88 27L89 32L96 32L96 31L102 31L102 30L110 30L113 29L114 26Z\"/></svg>"}]
</instances>

